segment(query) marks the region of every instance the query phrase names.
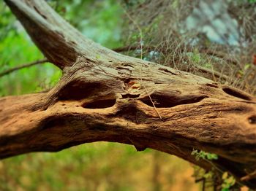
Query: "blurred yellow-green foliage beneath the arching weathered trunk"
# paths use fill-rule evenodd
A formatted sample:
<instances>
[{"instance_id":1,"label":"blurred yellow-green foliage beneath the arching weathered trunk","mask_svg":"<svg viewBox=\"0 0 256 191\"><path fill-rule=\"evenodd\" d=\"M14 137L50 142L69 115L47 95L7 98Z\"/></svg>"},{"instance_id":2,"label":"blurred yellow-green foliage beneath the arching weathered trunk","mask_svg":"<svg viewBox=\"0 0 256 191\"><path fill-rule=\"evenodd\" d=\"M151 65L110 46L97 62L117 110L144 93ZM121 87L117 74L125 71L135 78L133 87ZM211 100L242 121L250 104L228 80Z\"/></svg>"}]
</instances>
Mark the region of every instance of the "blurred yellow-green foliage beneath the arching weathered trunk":
<instances>
[{"instance_id":1,"label":"blurred yellow-green foliage beneath the arching weathered trunk","mask_svg":"<svg viewBox=\"0 0 256 191\"><path fill-rule=\"evenodd\" d=\"M0 190L151 190L156 167L162 190L197 190L185 161L107 142L1 160Z\"/></svg>"}]
</instances>

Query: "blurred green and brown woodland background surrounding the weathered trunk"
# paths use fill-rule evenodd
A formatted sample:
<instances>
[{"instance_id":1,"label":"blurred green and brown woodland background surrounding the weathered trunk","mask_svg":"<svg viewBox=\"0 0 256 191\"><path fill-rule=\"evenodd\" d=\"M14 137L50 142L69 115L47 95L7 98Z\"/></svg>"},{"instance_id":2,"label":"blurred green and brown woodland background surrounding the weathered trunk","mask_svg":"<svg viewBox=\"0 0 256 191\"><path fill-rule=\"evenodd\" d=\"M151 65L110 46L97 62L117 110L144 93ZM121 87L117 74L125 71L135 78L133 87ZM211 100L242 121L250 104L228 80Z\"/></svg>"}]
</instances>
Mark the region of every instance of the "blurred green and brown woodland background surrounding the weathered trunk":
<instances>
[{"instance_id":1,"label":"blurred green and brown woodland background surrounding the weathered trunk","mask_svg":"<svg viewBox=\"0 0 256 191\"><path fill-rule=\"evenodd\" d=\"M256 94L255 0L48 3L105 47ZM0 14L0 96L49 90L61 71L45 61L27 66L42 53L3 1ZM0 190L202 190L195 171L162 152L99 142L1 160Z\"/></svg>"}]
</instances>

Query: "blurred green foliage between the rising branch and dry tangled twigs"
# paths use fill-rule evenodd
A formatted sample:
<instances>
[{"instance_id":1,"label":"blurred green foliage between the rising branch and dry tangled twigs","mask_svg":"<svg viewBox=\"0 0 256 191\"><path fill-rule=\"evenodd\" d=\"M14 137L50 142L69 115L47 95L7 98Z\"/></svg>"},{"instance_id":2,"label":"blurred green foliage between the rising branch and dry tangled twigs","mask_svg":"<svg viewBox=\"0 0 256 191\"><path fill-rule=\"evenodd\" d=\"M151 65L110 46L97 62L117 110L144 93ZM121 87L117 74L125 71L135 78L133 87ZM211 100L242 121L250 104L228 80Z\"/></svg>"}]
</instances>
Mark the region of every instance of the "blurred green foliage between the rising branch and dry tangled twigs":
<instances>
[{"instance_id":1,"label":"blurred green foliage between the rising branch and dry tangled twigs","mask_svg":"<svg viewBox=\"0 0 256 191\"><path fill-rule=\"evenodd\" d=\"M124 11L116 1L51 0L50 4L69 23L95 42L109 48L121 46L120 18Z\"/></svg>"}]
</instances>

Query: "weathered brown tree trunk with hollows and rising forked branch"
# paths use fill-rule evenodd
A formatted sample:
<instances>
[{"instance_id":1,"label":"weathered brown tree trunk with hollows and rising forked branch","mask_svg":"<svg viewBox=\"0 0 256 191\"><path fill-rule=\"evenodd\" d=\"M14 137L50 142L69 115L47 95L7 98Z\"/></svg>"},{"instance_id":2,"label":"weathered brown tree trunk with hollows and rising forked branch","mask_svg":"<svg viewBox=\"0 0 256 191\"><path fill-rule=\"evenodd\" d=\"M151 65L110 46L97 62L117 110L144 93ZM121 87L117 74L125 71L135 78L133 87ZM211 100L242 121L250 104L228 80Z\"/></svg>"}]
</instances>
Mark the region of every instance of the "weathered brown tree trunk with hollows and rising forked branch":
<instances>
[{"instance_id":1,"label":"weathered brown tree trunk with hollows and rising forked branch","mask_svg":"<svg viewBox=\"0 0 256 191\"><path fill-rule=\"evenodd\" d=\"M237 179L255 171L255 97L101 47L45 1L5 1L64 74L48 93L0 98L0 158L115 141L206 169L211 164L191 152L214 152L214 165ZM243 183L255 187L256 181Z\"/></svg>"}]
</instances>

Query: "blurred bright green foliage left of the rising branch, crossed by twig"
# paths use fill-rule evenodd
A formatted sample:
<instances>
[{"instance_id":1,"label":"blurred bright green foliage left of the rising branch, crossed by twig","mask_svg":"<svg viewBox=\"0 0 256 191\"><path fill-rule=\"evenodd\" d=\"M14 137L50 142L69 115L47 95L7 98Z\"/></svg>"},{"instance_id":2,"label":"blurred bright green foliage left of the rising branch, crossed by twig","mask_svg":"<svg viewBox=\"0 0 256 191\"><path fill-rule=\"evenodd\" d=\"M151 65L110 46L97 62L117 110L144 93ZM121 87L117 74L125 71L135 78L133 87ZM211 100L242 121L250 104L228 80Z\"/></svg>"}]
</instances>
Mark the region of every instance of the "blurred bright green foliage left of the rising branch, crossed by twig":
<instances>
[{"instance_id":1,"label":"blurred bright green foliage left of the rising branch, crossed by twig","mask_svg":"<svg viewBox=\"0 0 256 191\"><path fill-rule=\"evenodd\" d=\"M1 2L0 10L0 26L3 26L0 31L0 72L41 59L42 53L15 20L10 9ZM21 69L0 78L0 96L33 93L52 87L60 76L61 71L50 63Z\"/></svg>"}]
</instances>

